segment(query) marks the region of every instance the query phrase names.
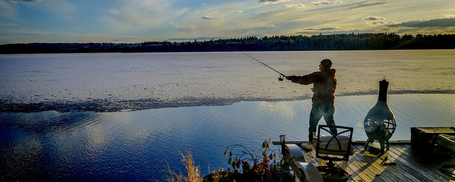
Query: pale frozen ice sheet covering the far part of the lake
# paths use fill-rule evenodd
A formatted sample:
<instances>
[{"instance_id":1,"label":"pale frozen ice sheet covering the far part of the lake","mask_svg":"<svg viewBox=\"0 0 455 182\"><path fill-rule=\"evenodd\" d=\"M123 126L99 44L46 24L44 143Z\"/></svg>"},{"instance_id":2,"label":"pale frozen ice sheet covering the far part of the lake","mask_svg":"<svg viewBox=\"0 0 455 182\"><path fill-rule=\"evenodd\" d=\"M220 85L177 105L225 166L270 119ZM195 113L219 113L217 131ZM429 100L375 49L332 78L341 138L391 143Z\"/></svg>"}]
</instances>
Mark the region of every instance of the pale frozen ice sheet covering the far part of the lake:
<instances>
[{"instance_id":1,"label":"pale frozen ice sheet covering the far part of the lake","mask_svg":"<svg viewBox=\"0 0 455 182\"><path fill-rule=\"evenodd\" d=\"M455 50L246 52L284 75L330 58L336 96L455 93ZM239 52L0 55L1 111L130 111L309 99L309 86Z\"/></svg>"}]
</instances>

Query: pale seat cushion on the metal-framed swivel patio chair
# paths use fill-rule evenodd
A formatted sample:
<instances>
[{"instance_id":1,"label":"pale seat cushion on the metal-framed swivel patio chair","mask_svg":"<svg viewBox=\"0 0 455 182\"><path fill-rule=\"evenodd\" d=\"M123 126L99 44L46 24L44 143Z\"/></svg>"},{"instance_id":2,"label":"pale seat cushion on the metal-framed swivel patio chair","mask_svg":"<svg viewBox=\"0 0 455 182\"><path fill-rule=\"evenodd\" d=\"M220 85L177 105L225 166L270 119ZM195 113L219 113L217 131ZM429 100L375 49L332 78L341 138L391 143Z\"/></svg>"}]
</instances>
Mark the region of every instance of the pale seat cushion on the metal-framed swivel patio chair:
<instances>
[{"instance_id":1,"label":"pale seat cushion on the metal-framed swivel patio chair","mask_svg":"<svg viewBox=\"0 0 455 182\"><path fill-rule=\"evenodd\" d=\"M336 138L334 136L320 136L319 137L319 153L320 154L329 154L329 155L338 155L338 156L346 156L349 152L349 155L354 155L354 148L348 150L349 145L349 136L339 135ZM332 139L332 141L330 141ZM329 142L330 141L330 142ZM317 147L317 145L313 144L313 147ZM340 150L341 149L341 150Z\"/></svg>"}]
</instances>

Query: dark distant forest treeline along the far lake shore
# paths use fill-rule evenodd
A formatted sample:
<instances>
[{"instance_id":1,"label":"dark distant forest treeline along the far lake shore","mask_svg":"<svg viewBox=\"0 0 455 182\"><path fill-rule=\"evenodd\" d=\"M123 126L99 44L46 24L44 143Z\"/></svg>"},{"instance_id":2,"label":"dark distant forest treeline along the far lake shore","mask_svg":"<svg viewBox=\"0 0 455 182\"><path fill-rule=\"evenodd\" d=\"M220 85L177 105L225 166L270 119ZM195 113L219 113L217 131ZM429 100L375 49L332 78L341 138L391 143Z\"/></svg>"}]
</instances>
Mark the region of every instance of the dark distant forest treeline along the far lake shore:
<instances>
[{"instance_id":1,"label":"dark distant forest treeline along the far lake shore","mask_svg":"<svg viewBox=\"0 0 455 182\"><path fill-rule=\"evenodd\" d=\"M332 35L248 36L232 39L118 43L24 43L0 45L0 54L94 52L335 51L454 49L455 35L363 33Z\"/></svg>"}]
</instances>

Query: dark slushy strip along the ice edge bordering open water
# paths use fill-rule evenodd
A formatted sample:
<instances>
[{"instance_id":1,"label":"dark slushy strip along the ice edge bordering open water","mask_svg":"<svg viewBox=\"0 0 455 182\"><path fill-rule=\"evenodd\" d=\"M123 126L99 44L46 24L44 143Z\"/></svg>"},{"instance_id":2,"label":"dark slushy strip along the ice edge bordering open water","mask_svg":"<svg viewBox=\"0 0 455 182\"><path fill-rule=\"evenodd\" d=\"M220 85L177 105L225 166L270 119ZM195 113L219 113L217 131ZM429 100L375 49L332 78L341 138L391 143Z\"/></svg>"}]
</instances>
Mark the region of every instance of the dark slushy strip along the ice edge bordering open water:
<instances>
[{"instance_id":1,"label":"dark slushy strip along the ice edge bordering open water","mask_svg":"<svg viewBox=\"0 0 455 182\"><path fill-rule=\"evenodd\" d=\"M378 91L354 92L336 94L340 96L364 96L377 95ZM388 95L398 94L455 94L454 90L445 91L388 91ZM241 101L299 101L311 99L312 95L303 94L296 98L176 98L169 101L162 101L153 98L138 99L138 100L113 100L113 99L95 99L92 101L38 101L35 103L15 103L8 100L0 100L0 112L42 112L42 111L57 111L57 112L118 112L118 111L140 111L159 108L175 108L175 107L191 107L191 106L227 106Z\"/></svg>"}]
</instances>

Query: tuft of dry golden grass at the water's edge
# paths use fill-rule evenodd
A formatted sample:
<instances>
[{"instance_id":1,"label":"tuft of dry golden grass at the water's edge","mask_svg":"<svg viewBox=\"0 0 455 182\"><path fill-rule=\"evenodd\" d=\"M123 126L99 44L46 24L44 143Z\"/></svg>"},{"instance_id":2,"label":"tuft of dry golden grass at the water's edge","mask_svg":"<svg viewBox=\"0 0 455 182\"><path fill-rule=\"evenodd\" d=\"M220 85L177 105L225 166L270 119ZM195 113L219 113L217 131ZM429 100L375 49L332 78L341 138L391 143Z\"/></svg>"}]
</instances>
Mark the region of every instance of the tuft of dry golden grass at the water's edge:
<instances>
[{"instance_id":1,"label":"tuft of dry golden grass at the water's edge","mask_svg":"<svg viewBox=\"0 0 455 182\"><path fill-rule=\"evenodd\" d=\"M183 175L182 172L175 172L169 167L169 164L167 165L167 175L165 177L167 182L203 182L204 179L201 177L201 170L199 166L195 166L194 164L194 159L193 155L191 152L187 152L187 155L183 155L183 153L180 153L182 156L182 162L183 165L185 165L185 168L187 170L187 175Z\"/></svg>"}]
</instances>

